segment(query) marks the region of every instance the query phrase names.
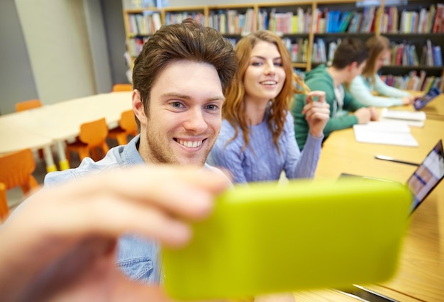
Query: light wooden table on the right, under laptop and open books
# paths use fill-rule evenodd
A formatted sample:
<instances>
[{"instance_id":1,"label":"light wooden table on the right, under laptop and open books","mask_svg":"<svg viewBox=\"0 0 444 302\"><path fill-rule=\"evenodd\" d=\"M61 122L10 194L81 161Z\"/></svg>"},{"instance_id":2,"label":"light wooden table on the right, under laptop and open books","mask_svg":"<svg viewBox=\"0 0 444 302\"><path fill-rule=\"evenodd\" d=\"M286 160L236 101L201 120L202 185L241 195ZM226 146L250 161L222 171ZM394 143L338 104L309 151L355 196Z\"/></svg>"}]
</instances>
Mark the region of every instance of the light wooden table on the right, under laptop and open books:
<instances>
[{"instance_id":1,"label":"light wooden table on the right, under laptop and open books","mask_svg":"<svg viewBox=\"0 0 444 302\"><path fill-rule=\"evenodd\" d=\"M423 128L411 127L411 133L418 141L418 147L356 142L352 128L335 131L323 145L316 178L336 179L344 172L405 183L416 167L376 160L374 155L419 163L439 139L444 140L444 122L427 119ZM411 217L396 276L384 284L362 286L399 301L443 301L443 181ZM349 297L333 290L295 293L295 297L296 301L350 301Z\"/></svg>"}]
</instances>

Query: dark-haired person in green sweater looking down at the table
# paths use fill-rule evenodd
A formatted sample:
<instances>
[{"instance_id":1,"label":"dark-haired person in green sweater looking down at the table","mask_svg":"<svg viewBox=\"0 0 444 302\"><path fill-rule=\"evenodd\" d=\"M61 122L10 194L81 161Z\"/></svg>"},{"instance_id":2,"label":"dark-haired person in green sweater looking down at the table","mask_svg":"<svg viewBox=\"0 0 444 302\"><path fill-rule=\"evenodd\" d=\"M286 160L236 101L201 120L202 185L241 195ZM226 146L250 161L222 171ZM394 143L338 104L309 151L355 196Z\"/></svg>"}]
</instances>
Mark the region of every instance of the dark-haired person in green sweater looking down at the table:
<instances>
[{"instance_id":1,"label":"dark-haired person in green sweater looking down at the table","mask_svg":"<svg viewBox=\"0 0 444 302\"><path fill-rule=\"evenodd\" d=\"M309 86L311 91L325 91L326 102L330 105L330 119L323 129L324 140L334 130L377 120L376 108L361 104L348 93L344 86L361 74L367 57L368 49L362 40L345 38L335 51L331 67L319 65L306 73L306 86ZM301 150L304 148L309 133L309 124L306 121L306 116L302 113L305 105L306 95L295 94L292 114L294 116L294 132ZM353 114L349 114L349 112L353 112Z\"/></svg>"}]
</instances>

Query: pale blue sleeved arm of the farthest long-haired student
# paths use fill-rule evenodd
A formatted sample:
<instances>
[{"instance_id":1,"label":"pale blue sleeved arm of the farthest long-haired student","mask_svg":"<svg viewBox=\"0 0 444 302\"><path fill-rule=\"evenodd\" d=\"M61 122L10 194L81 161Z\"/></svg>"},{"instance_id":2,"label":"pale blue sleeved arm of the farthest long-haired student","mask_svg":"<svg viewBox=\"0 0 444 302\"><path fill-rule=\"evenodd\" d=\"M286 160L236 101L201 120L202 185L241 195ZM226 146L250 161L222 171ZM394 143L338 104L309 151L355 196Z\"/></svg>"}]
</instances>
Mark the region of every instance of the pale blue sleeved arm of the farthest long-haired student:
<instances>
[{"instance_id":1,"label":"pale blue sleeved arm of the farthest long-haired student","mask_svg":"<svg viewBox=\"0 0 444 302\"><path fill-rule=\"evenodd\" d=\"M379 79L379 77L377 78ZM379 79L379 82L382 82L381 79ZM374 88L375 90L377 90L376 85ZM389 107L389 106L399 106L403 104L402 100L398 98L374 96L372 94L372 91L370 91L370 88L365 84L364 79L361 76L355 77L355 79L353 79L352 83L350 84L350 94L355 99L360 101L360 103L366 106ZM379 92L379 94L381 93Z\"/></svg>"}]
</instances>

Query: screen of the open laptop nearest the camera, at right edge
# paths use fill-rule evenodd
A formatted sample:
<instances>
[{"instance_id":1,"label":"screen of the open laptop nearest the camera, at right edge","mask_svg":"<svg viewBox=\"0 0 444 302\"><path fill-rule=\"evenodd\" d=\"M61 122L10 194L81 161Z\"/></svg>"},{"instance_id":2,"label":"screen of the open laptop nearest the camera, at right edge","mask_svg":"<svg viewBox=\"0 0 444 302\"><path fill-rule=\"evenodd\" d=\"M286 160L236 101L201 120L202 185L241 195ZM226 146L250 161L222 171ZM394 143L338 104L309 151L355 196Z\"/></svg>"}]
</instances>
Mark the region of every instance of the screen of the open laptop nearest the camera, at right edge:
<instances>
[{"instance_id":1,"label":"screen of the open laptop nearest the camera, at right edge","mask_svg":"<svg viewBox=\"0 0 444 302\"><path fill-rule=\"evenodd\" d=\"M407 184L414 194L414 203L411 211L414 211L428 194L438 185L444 177L444 152L443 141L433 147L431 152L418 166L418 169L410 177Z\"/></svg>"}]
</instances>

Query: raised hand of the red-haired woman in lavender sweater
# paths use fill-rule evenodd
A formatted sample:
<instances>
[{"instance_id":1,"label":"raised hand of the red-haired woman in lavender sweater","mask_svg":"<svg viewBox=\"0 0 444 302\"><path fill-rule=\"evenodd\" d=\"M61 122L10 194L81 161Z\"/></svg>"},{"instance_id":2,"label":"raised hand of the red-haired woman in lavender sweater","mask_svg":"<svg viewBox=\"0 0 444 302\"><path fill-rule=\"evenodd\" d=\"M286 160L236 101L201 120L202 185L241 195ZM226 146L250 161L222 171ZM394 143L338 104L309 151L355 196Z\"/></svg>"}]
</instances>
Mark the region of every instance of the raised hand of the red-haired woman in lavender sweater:
<instances>
[{"instance_id":1,"label":"raised hand of the red-haired woman in lavender sweater","mask_svg":"<svg viewBox=\"0 0 444 302\"><path fill-rule=\"evenodd\" d=\"M313 98L318 100L314 101ZM311 136L320 138L323 135L323 128L330 118L330 105L326 103L326 93L324 91L311 91L306 96L306 105L302 109L302 114L309 124Z\"/></svg>"}]
</instances>

